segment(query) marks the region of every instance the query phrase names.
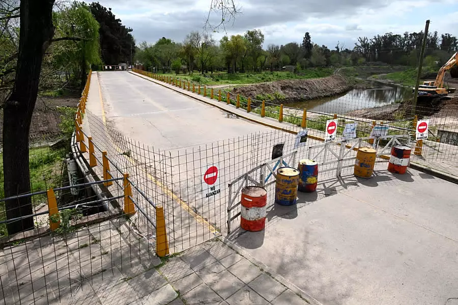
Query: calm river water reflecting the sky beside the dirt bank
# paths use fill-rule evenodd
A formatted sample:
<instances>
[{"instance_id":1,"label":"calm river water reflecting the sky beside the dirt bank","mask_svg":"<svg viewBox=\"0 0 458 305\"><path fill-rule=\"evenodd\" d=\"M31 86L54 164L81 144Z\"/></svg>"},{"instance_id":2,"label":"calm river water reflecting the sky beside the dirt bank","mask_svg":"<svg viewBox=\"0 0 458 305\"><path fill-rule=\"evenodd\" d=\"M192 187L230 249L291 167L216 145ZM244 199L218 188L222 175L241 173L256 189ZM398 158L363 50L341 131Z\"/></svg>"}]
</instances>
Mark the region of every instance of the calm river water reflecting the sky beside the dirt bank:
<instances>
[{"instance_id":1,"label":"calm river water reflecting the sky beside the dirt bank","mask_svg":"<svg viewBox=\"0 0 458 305\"><path fill-rule=\"evenodd\" d=\"M412 97L409 87L385 85L374 82L375 89L354 89L341 96L332 96L315 100L290 103L288 106L307 108L307 110L344 114L363 108L379 107L392 104L397 100Z\"/></svg>"}]
</instances>

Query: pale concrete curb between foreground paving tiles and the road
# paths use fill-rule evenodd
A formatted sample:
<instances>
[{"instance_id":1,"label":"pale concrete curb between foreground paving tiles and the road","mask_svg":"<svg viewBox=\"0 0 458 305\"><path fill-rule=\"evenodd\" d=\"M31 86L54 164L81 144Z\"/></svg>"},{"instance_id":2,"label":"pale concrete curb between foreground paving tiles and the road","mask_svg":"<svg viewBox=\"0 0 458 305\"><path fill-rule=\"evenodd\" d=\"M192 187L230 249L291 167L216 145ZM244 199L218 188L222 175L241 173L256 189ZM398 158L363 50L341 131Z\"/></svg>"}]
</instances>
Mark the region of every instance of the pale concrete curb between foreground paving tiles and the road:
<instances>
[{"instance_id":1,"label":"pale concrete curb between foreground paving tiles and the road","mask_svg":"<svg viewBox=\"0 0 458 305\"><path fill-rule=\"evenodd\" d=\"M251 254L247 253L244 248L238 246L231 240L228 240L224 236L218 236L218 238L223 242L225 245L228 247L232 248L234 251L245 257L247 260L249 260L252 264L256 265L259 268L262 268L267 274L272 276L274 280L282 284L283 286L287 287L297 295L299 295L302 299L304 299L307 303L312 304L312 305L323 305L321 302L319 302L316 298L312 297L310 294L306 293L293 283L289 282L287 279L283 278L280 274L269 268L267 265L265 265L263 262L260 262L259 260L255 259L254 257L251 256Z\"/></svg>"}]
</instances>

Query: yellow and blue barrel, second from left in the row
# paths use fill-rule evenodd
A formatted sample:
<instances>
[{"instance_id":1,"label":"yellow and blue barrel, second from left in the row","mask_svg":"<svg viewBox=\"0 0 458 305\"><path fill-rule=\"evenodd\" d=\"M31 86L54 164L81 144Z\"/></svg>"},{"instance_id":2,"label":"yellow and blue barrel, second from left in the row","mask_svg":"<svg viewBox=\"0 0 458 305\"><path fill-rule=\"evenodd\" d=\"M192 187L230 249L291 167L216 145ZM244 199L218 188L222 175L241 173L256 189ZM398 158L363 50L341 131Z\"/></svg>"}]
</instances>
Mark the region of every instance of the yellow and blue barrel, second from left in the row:
<instances>
[{"instance_id":1,"label":"yellow and blue barrel, second from left in the row","mask_svg":"<svg viewBox=\"0 0 458 305\"><path fill-rule=\"evenodd\" d=\"M275 182L275 203L279 205L296 204L299 171L284 167L277 170Z\"/></svg>"}]
</instances>

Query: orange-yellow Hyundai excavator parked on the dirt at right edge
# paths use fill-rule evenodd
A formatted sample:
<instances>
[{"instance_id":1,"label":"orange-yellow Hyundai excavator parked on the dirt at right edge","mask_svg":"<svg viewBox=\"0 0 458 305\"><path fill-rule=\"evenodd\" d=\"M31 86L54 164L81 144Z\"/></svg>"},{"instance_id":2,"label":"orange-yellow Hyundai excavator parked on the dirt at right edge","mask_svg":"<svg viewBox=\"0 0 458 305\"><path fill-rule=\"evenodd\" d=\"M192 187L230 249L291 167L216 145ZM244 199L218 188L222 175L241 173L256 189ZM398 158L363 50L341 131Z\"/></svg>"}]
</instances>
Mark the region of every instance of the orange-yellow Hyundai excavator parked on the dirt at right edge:
<instances>
[{"instance_id":1,"label":"orange-yellow Hyundai excavator parked on the dirt at right edge","mask_svg":"<svg viewBox=\"0 0 458 305\"><path fill-rule=\"evenodd\" d=\"M456 88L444 88L445 72L450 70L450 76L458 78L458 52L439 69L435 81L424 81L423 85L418 86L418 97L431 99L450 99L447 97L449 93L454 93ZM415 91L415 88L413 88Z\"/></svg>"}]
</instances>

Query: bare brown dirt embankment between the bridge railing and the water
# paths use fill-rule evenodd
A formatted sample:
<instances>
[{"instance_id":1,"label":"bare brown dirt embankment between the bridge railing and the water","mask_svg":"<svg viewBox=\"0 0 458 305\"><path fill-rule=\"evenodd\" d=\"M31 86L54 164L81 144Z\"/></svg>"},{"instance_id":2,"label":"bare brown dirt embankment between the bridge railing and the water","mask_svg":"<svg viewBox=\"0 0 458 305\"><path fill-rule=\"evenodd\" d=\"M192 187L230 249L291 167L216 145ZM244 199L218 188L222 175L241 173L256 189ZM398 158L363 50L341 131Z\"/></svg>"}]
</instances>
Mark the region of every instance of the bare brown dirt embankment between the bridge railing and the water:
<instances>
[{"instance_id":1,"label":"bare brown dirt embankment between the bridge railing and the water","mask_svg":"<svg viewBox=\"0 0 458 305\"><path fill-rule=\"evenodd\" d=\"M337 74L324 78L288 79L236 87L233 93L275 104L287 104L342 94L356 86L361 85Z\"/></svg>"}]
</instances>

